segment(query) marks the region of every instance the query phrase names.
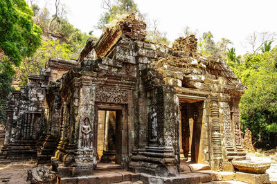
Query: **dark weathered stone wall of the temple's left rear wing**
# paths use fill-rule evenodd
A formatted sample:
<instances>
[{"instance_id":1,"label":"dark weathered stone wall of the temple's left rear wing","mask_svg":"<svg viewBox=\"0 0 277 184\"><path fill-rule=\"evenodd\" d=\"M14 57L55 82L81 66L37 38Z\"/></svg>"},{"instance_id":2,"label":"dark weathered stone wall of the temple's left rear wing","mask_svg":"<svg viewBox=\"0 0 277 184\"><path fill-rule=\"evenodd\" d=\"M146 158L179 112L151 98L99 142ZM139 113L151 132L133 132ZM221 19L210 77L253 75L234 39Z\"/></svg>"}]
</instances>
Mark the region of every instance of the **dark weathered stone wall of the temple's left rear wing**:
<instances>
[{"instance_id":1,"label":"dark weathered stone wall of the temple's left rear wing","mask_svg":"<svg viewBox=\"0 0 277 184\"><path fill-rule=\"evenodd\" d=\"M50 82L57 80L69 68L76 65L78 62L69 59L49 59L46 68L42 69L39 75L28 76L27 86L10 94L7 104L6 136L1 157L36 158L35 147L39 140L43 141L49 130L48 115L44 113L44 110L48 111L44 104L46 88ZM52 122L53 117L50 118ZM50 129L53 127L49 126ZM59 131L58 128L56 132Z\"/></svg>"}]
</instances>

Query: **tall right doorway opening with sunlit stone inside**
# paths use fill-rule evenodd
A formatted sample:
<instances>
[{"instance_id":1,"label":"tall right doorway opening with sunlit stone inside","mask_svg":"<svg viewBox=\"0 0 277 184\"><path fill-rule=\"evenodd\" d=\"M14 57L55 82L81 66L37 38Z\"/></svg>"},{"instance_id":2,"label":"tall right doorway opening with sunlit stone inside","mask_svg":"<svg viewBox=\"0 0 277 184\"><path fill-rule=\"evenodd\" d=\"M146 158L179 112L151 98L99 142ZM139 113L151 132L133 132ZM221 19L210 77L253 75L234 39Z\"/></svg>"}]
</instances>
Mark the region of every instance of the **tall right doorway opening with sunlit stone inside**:
<instances>
[{"instance_id":1,"label":"tall right doorway opening with sunlit stone inside","mask_svg":"<svg viewBox=\"0 0 277 184\"><path fill-rule=\"evenodd\" d=\"M180 163L198 163L203 105L203 100L179 100Z\"/></svg>"}]
</instances>

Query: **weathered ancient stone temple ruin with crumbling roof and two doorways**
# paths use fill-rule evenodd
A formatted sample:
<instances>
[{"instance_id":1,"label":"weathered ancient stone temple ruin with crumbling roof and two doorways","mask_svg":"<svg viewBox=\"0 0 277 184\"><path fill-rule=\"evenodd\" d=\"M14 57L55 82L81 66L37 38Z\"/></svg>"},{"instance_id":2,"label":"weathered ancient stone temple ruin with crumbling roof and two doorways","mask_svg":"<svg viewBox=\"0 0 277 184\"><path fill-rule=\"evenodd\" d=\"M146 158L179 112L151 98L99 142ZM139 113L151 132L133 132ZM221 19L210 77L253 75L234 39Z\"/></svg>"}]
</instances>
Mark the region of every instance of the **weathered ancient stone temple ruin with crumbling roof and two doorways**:
<instances>
[{"instance_id":1,"label":"weathered ancient stone temple ruin with crumbling roof and two doorways","mask_svg":"<svg viewBox=\"0 0 277 184\"><path fill-rule=\"evenodd\" d=\"M244 86L223 59L197 53L193 35L169 48L146 41L145 28L129 15L89 39L78 61L50 59L30 76L12 94L1 158L51 162L61 183L92 182L102 165L160 177L187 163L233 172L245 158Z\"/></svg>"}]
</instances>

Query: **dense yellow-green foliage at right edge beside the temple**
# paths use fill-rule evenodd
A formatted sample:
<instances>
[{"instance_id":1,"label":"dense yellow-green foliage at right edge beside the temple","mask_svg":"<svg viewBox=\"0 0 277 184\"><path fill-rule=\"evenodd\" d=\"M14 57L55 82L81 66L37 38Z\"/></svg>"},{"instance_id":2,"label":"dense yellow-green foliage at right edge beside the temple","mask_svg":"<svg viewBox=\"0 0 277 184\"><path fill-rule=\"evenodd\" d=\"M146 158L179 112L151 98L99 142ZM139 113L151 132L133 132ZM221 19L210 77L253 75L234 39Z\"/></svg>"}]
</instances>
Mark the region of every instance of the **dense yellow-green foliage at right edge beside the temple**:
<instances>
[{"instance_id":1,"label":"dense yellow-green foliage at right edge beside the temple","mask_svg":"<svg viewBox=\"0 0 277 184\"><path fill-rule=\"evenodd\" d=\"M267 140L271 145L277 143L276 50L246 55L244 62L231 66L248 88L240 100L243 127L252 131L254 140Z\"/></svg>"}]
</instances>

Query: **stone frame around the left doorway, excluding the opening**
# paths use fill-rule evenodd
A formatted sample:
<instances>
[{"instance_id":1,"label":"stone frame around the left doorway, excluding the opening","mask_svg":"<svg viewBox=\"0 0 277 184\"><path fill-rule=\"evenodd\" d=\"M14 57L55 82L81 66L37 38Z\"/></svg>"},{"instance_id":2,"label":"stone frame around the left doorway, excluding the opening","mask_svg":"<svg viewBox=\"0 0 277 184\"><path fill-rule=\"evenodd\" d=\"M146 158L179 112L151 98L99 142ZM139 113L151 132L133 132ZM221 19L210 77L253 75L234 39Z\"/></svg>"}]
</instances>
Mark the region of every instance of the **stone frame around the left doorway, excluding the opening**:
<instances>
[{"instance_id":1,"label":"stone frame around the left doorway, excluding the opening","mask_svg":"<svg viewBox=\"0 0 277 184\"><path fill-rule=\"evenodd\" d=\"M95 104L95 118L93 129L93 167L96 168L97 142L98 142L98 111L116 111L116 164L127 167L128 157L128 124L127 124L127 105L126 104ZM120 133L120 134L119 134Z\"/></svg>"}]
</instances>

